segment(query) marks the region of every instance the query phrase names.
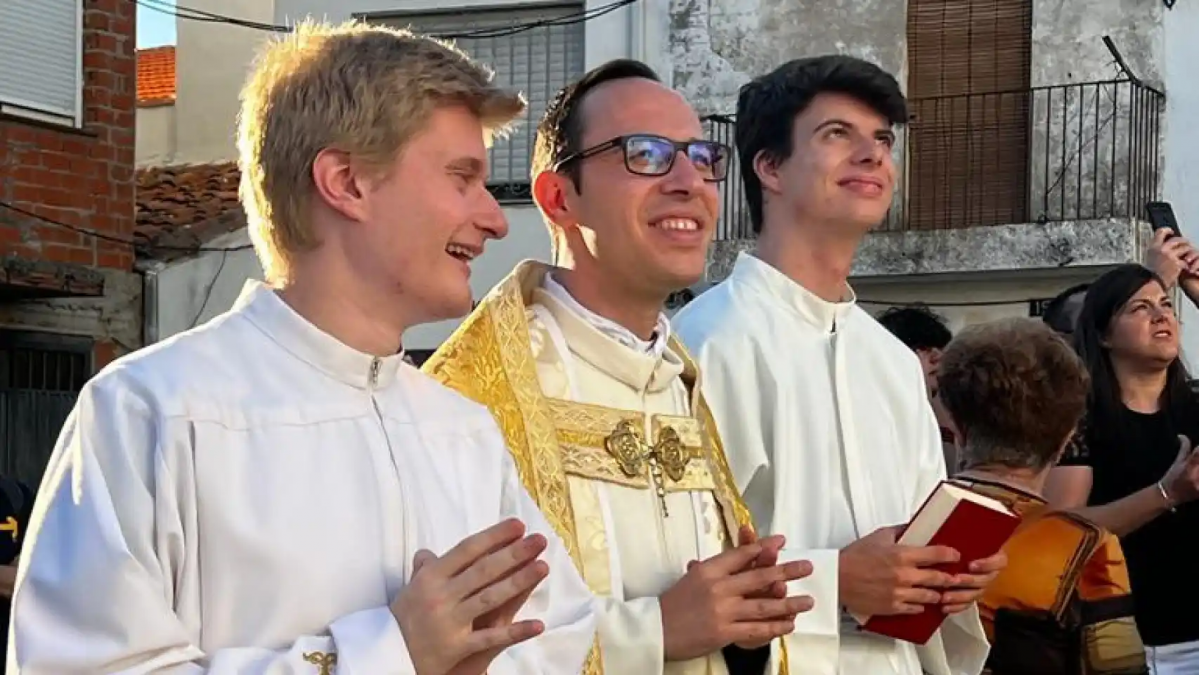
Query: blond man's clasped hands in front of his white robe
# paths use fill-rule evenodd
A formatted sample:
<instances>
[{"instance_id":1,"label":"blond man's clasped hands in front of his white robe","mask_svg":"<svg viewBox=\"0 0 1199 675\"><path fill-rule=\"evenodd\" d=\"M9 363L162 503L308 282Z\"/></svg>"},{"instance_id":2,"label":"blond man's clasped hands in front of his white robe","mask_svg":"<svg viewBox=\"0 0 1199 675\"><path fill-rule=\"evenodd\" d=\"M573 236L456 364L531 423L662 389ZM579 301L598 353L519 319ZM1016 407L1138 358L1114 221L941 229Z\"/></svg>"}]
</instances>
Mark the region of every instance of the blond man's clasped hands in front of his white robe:
<instances>
[{"instance_id":1,"label":"blond man's clasped hands in front of his white robe","mask_svg":"<svg viewBox=\"0 0 1199 675\"><path fill-rule=\"evenodd\" d=\"M541 621L514 619L549 573L537 560L546 546L508 519L440 558L417 552L412 580L391 605L416 671L482 675L501 651L541 634Z\"/></svg>"}]
</instances>

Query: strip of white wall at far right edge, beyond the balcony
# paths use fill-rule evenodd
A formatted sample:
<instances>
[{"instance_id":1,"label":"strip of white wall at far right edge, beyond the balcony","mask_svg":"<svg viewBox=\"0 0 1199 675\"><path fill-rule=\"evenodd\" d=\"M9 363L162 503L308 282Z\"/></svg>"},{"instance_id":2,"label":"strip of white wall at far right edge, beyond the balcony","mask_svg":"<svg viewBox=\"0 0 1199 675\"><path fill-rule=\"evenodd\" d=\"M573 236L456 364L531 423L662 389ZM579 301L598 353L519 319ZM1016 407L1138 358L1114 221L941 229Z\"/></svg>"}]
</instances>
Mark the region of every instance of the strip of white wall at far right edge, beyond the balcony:
<instances>
[{"instance_id":1,"label":"strip of white wall at far right edge, beyond the balcony","mask_svg":"<svg viewBox=\"0 0 1199 675\"><path fill-rule=\"evenodd\" d=\"M1164 195L1174 204L1182 234L1199 242L1199 5L1176 2L1165 23ZM1183 302L1182 349L1199 363L1199 311Z\"/></svg>"}]
</instances>

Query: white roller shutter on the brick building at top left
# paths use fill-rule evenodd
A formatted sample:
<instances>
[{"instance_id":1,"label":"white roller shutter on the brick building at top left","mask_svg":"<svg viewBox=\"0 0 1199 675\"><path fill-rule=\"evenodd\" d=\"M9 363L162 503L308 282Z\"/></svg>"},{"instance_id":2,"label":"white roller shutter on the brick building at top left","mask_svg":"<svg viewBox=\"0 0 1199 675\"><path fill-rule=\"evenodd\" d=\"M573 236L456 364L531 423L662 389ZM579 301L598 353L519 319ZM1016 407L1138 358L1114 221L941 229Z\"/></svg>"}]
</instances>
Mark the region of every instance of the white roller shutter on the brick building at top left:
<instances>
[{"instance_id":1,"label":"white roller shutter on the brick building at top left","mask_svg":"<svg viewBox=\"0 0 1199 675\"><path fill-rule=\"evenodd\" d=\"M82 0L0 0L0 104L74 121Z\"/></svg>"}]
</instances>

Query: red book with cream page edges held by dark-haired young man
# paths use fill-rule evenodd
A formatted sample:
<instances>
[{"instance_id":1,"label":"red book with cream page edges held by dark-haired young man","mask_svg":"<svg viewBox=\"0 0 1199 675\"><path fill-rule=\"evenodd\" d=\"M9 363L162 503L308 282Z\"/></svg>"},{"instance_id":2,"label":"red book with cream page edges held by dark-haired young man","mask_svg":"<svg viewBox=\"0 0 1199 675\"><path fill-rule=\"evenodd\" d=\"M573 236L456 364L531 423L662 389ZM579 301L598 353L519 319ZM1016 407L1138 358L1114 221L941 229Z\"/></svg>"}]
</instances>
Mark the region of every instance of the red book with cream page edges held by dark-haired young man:
<instances>
[{"instance_id":1,"label":"red book with cream page edges held by dark-haired young man","mask_svg":"<svg viewBox=\"0 0 1199 675\"><path fill-rule=\"evenodd\" d=\"M999 553L1019 524L1019 516L1002 502L942 481L904 528L898 543L956 549L962 554L960 560L938 565L935 569L965 574L975 560ZM855 619L872 633L922 645L941 627L945 616L940 605L929 604L921 614Z\"/></svg>"}]
</instances>

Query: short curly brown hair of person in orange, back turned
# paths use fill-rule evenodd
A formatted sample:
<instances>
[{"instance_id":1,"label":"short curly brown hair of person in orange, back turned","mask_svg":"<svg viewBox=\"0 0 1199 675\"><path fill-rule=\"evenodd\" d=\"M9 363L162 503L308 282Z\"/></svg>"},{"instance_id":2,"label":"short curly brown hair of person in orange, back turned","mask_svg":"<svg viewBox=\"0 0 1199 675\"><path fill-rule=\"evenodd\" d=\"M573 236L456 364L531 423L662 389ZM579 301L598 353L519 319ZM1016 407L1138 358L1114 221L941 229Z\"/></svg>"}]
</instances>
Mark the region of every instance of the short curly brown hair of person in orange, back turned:
<instances>
[{"instance_id":1,"label":"short curly brown hair of person in orange, back turned","mask_svg":"<svg viewBox=\"0 0 1199 675\"><path fill-rule=\"evenodd\" d=\"M1078 354L1036 319L962 331L941 358L941 402L965 439L968 466L1052 466L1086 409Z\"/></svg>"}]
</instances>

